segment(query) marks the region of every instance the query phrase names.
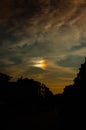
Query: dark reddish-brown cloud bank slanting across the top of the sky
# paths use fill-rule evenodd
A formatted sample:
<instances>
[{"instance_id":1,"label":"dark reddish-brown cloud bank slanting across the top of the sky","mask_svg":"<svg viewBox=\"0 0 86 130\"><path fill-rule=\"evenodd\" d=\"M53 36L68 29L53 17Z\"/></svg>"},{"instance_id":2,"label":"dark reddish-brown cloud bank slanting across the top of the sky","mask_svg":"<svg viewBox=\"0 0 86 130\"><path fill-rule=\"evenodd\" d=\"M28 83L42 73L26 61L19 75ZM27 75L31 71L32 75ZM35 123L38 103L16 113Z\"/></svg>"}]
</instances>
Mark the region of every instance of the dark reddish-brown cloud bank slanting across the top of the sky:
<instances>
[{"instance_id":1,"label":"dark reddish-brown cloud bank slanting across the top of the sky","mask_svg":"<svg viewBox=\"0 0 86 130\"><path fill-rule=\"evenodd\" d=\"M50 27L80 16L84 1L76 0L3 0L0 7L1 42L34 37ZM50 30L49 30L50 31ZM38 35L39 36L39 35ZM4 38L3 38L4 37ZM10 38L9 38L10 37ZM4 43L3 43L4 44Z\"/></svg>"}]
</instances>

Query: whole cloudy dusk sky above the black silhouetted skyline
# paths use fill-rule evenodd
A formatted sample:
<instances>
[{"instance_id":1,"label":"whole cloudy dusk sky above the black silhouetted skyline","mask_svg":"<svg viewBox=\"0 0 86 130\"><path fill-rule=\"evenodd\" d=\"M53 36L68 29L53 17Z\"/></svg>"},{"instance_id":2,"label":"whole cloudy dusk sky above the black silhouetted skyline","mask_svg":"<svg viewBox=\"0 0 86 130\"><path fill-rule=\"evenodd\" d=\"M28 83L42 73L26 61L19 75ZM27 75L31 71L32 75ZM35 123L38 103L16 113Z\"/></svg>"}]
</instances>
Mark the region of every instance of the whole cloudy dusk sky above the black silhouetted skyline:
<instances>
[{"instance_id":1,"label":"whole cloudy dusk sky above the black silhouetted skyline","mask_svg":"<svg viewBox=\"0 0 86 130\"><path fill-rule=\"evenodd\" d=\"M0 72L44 83L54 93L73 84L86 56L86 0L1 0Z\"/></svg>"}]
</instances>

